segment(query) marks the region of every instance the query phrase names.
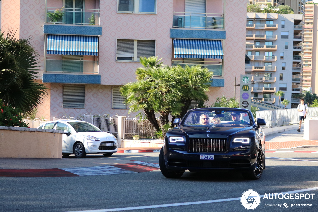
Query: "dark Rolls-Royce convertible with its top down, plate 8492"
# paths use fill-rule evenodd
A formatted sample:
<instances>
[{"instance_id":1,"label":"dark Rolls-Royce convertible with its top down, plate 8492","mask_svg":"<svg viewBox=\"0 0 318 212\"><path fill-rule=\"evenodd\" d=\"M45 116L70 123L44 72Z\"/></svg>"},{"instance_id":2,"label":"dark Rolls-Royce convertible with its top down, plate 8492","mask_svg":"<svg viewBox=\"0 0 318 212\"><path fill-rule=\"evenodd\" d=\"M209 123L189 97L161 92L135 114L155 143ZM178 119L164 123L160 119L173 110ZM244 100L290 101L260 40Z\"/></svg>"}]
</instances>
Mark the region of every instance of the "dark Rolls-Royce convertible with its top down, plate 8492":
<instances>
[{"instance_id":1,"label":"dark Rolls-Royce convertible with its top down, plate 8492","mask_svg":"<svg viewBox=\"0 0 318 212\"><path fill-rule=\"evenodd\" d=\"M234 170L257 180L265 169L265 135L252 112L239 108L198 108L173 121L159 155L162 174L179 178L184 171Z\"/></svg>"}]
</instances>

